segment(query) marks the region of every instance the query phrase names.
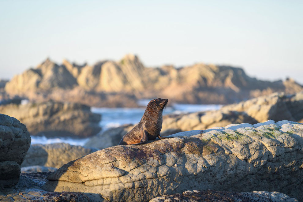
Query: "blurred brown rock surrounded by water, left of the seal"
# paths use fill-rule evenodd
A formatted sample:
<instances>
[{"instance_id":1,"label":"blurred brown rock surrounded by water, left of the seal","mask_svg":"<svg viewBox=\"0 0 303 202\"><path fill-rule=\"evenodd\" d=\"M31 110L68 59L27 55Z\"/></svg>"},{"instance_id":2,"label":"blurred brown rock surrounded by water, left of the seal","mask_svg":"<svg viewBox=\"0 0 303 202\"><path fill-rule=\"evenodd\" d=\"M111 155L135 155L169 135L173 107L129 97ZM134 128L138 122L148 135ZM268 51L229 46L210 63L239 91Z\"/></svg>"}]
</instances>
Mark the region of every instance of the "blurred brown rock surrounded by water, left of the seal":
<instances>
[{"instance_id":1,"label":"blurred brown rock surrounded by water, left of the seal","mask_svg":"<svg viewBox=\"0 0 303 202\"><path fill-rule=\"evenodd\" d=\"M101 128L100 114L90 107L77 103L43 102L24 105L0 106L0 113L8 114L23 122L31 135L88 137Z\"/></svg>"}]
</instances>

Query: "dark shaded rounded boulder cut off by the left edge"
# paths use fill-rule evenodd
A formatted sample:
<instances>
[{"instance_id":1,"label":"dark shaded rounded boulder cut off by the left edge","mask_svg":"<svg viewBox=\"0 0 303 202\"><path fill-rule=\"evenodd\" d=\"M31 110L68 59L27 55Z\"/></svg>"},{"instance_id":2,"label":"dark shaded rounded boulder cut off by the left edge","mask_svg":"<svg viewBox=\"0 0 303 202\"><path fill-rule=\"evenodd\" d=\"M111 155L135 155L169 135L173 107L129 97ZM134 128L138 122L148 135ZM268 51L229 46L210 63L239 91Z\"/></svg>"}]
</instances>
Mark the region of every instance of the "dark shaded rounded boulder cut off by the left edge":
<instances>
[{"instance_id":1,"label":"dark shaded rounded boulder cut off by the left edge","mask_svg":"<svg viewBox=\"0 0 303 202\"><path fill-rule=\"evenodd\" d=\"M30 144L26 126L16 118L0 114L0 186L17 184Z\"/></svg>"}]
</instances>

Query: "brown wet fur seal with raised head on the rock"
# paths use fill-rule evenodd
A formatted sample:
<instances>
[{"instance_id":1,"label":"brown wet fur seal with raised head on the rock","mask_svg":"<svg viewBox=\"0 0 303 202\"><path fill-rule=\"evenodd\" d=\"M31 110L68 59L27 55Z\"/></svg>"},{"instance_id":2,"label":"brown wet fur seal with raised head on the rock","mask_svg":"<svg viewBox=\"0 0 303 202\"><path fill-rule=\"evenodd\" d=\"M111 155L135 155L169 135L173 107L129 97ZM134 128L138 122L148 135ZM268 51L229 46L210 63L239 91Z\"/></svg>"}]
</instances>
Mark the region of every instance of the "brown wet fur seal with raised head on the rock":
<instances>
[{"instance_id":1,"label":"brown wet fur seal with raised head on the rock","mask_svg":"<svg viewBox=\"0 0 303 202\"><path fill-rule=\"evenodd\" d=\"M151 100L141 118L141 121L131 131L124 135L118 145L144 144L148 140L170 138L160 136L162 129L162 112L168 99Z\"/></svg>"}]
</instances>

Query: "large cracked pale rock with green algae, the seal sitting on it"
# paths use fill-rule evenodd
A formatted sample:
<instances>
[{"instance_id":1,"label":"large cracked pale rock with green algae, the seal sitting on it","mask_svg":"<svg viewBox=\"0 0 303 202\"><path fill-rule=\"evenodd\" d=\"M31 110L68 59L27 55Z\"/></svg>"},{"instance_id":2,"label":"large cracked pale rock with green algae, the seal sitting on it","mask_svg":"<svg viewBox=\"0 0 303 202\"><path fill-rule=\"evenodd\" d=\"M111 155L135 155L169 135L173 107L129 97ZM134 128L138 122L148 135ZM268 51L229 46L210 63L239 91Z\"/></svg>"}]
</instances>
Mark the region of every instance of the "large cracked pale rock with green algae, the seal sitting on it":
<instances>
[{"instance_id":1,"label":"large cracked pale rock with green algae, the seal sitting on it","mask_svg":"<svg viewBox=\"0 0 303 202\"><path fill-rule=\"evenodd\" d=\"M174 136L96 151L50 174L44 188L111 201L208 188L278 191L303 200L303 124L269 120Z\"/></svg>"}]
</instances>

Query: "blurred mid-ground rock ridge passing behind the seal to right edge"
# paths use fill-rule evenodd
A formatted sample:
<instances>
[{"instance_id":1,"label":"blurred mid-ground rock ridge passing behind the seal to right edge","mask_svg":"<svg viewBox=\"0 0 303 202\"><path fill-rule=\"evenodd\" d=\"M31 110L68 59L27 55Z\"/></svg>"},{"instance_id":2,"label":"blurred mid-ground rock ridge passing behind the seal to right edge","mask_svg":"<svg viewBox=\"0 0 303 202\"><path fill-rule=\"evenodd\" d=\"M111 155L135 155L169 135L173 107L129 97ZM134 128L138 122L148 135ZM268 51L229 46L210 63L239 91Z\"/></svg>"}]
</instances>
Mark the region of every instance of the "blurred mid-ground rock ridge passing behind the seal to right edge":
<instances>
[{"instance_id":1,"label":"blurred mid-ground rock ridge passing behind the seal to right edge","mask_svg":"<svg viewBox=\"0 0 303 202\"><path fill-rule=\"evenodd\" d=\"M303 122L303 92L292 95L273 93L237 104L223 106L220 110L163 116L161 135L168 136L189 130L204 130L229 124L290 120ZM126 124L100 132L85 144L99 149L118 145L121 138L135 125Z\"/></svg>"}]
</instances>

